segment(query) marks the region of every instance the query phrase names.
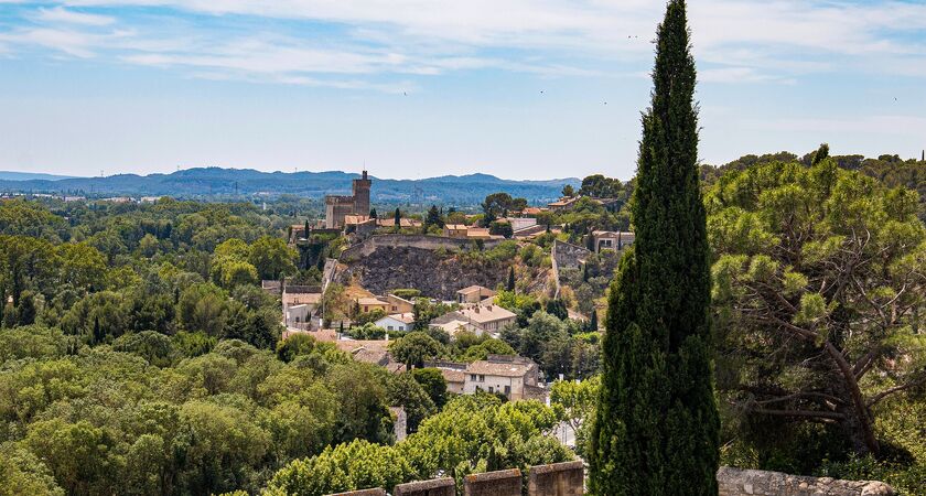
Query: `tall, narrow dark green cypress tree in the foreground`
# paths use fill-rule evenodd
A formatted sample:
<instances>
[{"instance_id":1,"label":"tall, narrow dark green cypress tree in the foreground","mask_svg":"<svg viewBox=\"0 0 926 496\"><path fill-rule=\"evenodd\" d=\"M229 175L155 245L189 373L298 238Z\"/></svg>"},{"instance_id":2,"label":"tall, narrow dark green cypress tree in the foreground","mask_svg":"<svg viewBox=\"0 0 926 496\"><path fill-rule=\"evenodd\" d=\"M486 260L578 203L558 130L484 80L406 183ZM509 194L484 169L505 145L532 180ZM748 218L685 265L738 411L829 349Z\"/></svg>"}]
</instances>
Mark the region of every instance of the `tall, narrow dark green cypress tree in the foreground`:
<instances>
[{"instance_id":1,"label":"tall, narrow dark green cypress tree in the foreground","mask_svg":"<svg viewBox=\"0 0 926 496\"><path fill-rule=\"evenodd\" d=\"M621 260L609 301L589 446L597 495L718 493L720 421L694 82L686 2L669 0L658 28L653 100L642 118L636 241Z\"/></svg>"}]
</instances>

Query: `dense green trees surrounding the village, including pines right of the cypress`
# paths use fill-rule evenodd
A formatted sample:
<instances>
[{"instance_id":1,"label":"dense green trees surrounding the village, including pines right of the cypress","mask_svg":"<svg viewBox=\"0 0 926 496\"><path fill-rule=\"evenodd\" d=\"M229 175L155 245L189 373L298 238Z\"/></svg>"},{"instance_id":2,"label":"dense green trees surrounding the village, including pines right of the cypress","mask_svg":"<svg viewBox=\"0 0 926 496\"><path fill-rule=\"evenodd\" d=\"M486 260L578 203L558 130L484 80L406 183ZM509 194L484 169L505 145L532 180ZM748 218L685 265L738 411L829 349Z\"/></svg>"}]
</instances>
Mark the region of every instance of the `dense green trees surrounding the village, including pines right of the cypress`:
<instances>
[{"instance_id":1,"label":"dense green trees surrounding the village, including pines right of the cypress","mask_svg":"<svg viewBox=\"0 0 926 496\"><path fill-rule=\"evenodd\" d=\"M924 171L826 148L702 166L721 463L926 490ZM568 310L602 312L621 257L564 273L559 300L528 276L553 239L633 229L635 182L577 186L574 208L538 214L559 234L467 255L513 267L497 302L518 322L500 339L451 341L424 324L448 309L417 301L422 325L391 347L409 366L517 353L583 379L554 382L551 407L453 397L434 369L391 375L331 343L281 342L260 281L317 281L284 241L317 202L0 202L0 495L321 495L584 455L606 315ZM489 196L489 225L517 206ZM345 332L377 337L368 323ZM575 453L550 436L560 421Z\"/></svg>"}]
</instances>

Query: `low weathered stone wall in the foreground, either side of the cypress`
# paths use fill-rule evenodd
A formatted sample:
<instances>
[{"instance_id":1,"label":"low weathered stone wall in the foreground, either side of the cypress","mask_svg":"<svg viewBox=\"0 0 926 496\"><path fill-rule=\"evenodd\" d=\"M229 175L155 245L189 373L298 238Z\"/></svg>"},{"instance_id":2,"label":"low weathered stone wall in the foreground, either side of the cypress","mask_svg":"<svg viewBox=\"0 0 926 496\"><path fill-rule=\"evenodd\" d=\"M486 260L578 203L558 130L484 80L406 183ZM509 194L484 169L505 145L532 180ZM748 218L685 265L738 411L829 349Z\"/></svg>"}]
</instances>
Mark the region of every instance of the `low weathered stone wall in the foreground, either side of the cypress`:
<instances>
[{"instance_id":1,"label":"low weathered stone wall in the foreground, either side of the cypress","mask_svg":"<svg viewBox=\"0 0 926 496\"><path fill-rule=\"evenodd\" d=\"M719 496L893 496L891 486L875 481L839 481L780 472L721 467L717 473ZM452 478L399 484L394 496L521 496L524 477L517 468L467 475L457 493ZM528 496L579 496L585 493L585 467L581 461L532 466L527 475ZM338 496L386 496L381 488L342 493Z\"/></svg>"}]
</instances>

